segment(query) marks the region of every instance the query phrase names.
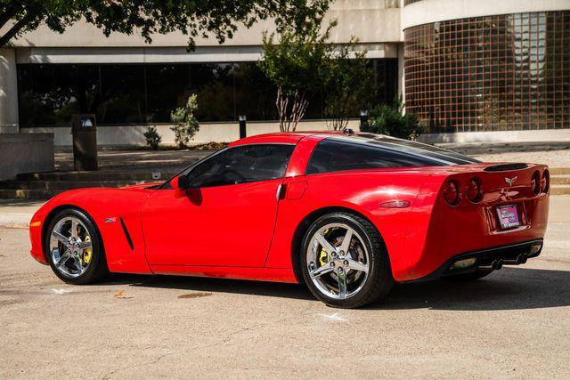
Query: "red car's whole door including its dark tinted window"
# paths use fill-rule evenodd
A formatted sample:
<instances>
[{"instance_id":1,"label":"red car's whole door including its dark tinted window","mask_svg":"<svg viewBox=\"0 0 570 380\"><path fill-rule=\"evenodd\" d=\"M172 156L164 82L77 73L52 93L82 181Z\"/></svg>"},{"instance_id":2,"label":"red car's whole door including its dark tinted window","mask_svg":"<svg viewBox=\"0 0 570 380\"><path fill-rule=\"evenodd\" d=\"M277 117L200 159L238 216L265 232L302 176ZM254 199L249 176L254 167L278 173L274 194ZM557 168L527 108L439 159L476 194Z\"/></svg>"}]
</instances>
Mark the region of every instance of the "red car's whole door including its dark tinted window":
<instances>
[{"instance_id":1,"label":"red car's whole door including its dark tinted window","mask_svg":"<svg viewBox=\"0 0 570 380\"><path fill-rule=\"evenodd\" d=\"M263 267L294 145L245 145L188 170L191 189L157 190L142 207L151 265Z\"/></svg>"}]
</instances>

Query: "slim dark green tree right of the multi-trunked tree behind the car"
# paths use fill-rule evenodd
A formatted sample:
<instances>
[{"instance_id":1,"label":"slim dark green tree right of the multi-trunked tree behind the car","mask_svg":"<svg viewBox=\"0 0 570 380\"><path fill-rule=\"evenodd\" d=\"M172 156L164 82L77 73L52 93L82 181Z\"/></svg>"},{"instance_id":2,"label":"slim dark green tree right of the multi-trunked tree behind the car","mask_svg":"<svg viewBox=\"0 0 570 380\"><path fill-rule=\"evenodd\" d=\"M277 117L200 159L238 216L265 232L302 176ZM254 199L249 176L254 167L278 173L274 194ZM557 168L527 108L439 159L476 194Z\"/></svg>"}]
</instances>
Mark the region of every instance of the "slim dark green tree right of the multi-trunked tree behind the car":
<instances>
[{"instance_id":1,"label":"slim dark green tree right of the multi-trunked tree behind the car","mask_svg":"<svg viewBox=\"0 0 570 380\"><path fill-rule=\"evenodd\" d=\"M329 60L322 69L324 113L331 129L343 130L348 119L373 100L374 71L366 51L355 50L356 39L342 46L330 46Z\"/></svg>"}]
</instances>

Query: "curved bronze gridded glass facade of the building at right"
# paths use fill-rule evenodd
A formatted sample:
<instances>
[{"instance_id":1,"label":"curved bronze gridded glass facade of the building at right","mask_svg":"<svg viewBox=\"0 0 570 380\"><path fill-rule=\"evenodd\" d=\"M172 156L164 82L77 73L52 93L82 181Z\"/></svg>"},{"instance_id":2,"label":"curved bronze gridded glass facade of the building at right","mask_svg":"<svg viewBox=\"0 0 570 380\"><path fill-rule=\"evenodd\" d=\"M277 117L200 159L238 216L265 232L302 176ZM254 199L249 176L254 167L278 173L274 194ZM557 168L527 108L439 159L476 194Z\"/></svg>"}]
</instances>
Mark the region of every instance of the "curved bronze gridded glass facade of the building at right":
<instances>
[{"instance_id":1,"label":"curved bronze gridded glass facade of the building at right","mask_svg":"<svg viewBox=\"0 0 570 380\"><path fill-rule=\"evenodd\" d=\"M430 132L570 127L570 12L404 31L406 109Z\"/></svg>"}]
</instances>

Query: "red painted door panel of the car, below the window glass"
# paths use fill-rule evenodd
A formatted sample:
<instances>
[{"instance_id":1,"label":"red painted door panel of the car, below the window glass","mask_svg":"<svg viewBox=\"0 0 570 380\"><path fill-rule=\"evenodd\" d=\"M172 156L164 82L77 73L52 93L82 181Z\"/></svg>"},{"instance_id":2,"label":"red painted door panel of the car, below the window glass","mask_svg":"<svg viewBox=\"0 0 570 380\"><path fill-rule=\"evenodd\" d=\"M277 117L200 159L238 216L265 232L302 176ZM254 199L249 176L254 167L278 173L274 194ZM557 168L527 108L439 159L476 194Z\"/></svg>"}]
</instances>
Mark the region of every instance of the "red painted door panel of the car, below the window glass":
<instances>
[{"instance_id":1,"label":"red painted door panel of the car, below the window glass","mask_svg":"<svg viewBox=\"0 0 570 380\"><path fill-rule=\"evenodd\" d=\"M149 263L263 267L281 182L155 191L141 210Z\"/></svg>"}]
</instances>

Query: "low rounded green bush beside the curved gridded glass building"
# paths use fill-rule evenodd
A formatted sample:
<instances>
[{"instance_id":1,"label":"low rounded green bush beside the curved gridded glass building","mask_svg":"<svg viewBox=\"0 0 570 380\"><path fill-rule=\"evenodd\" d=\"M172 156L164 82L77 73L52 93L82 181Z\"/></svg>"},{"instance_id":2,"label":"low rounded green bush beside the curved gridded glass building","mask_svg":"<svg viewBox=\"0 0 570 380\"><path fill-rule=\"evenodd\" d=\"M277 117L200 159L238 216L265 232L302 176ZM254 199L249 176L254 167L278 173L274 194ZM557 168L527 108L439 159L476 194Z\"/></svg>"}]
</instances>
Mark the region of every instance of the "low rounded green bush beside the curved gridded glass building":
<instances>
[{"instance_id":1,"label":"low rounded green bush beside the curved gridded glass building","mask_svg":"<svg viewBox=\"0 0 570 380\"><path fill-rule=\"evenodd\" d=\"M403 114L402 98L398 98L392 106L382 104L371 109L368 125L363 126L362 131L416 140L424 126L419 123L418 115L411 112Z\"/></svg>"}]
</instances>

